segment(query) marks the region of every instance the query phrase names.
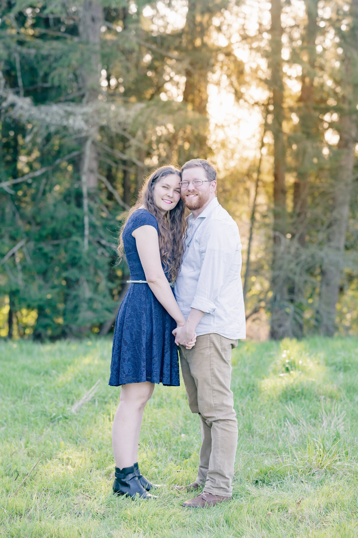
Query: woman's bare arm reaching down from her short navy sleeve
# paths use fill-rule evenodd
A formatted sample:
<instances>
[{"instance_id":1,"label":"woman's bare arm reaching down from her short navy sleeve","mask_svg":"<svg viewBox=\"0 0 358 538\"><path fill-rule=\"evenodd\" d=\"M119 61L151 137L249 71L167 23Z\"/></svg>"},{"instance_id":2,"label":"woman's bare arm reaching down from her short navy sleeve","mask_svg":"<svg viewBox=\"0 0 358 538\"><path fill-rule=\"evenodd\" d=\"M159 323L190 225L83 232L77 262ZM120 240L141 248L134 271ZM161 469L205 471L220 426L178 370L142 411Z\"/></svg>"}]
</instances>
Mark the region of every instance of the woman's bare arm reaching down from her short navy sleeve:
<instances>
[{"instance_id":1,"label":"woman's bare arm reaching down from her short navy sleeve","mask_svg":"<svg viewBox=\"0 0 358 538\"><path fill-rule=\"evenodd\" d=\"M167 281L160 260L158 233L154 226L144 225L132 232L143 266L145 280L158 301L179 326L185 324L178 303Z\"/></svg>"}]
</instances>

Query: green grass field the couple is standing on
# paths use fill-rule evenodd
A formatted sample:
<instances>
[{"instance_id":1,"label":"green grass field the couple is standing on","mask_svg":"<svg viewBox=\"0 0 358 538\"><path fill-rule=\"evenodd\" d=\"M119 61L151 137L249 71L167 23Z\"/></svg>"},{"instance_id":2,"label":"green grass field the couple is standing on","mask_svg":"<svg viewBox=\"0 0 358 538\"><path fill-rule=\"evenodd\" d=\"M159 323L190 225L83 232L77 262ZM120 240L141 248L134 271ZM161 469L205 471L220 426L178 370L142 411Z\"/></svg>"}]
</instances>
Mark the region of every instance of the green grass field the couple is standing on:
<instances>
[{"instance_id":1,"label":"green grass field the couple is standing on","mask_svg":"<svg viewBox=\"0 0 358 538\"><path fill-rule=\"evenodd\" d=\"M239 344L233 501L200 511L170 487L198 465L199 419L182 385L157 386L144 412L139 462L164 484L159 499L113 497L110 354L108 339L0 343L1 536L358 536L357 339Z\"/></svg>"}]
</instances>

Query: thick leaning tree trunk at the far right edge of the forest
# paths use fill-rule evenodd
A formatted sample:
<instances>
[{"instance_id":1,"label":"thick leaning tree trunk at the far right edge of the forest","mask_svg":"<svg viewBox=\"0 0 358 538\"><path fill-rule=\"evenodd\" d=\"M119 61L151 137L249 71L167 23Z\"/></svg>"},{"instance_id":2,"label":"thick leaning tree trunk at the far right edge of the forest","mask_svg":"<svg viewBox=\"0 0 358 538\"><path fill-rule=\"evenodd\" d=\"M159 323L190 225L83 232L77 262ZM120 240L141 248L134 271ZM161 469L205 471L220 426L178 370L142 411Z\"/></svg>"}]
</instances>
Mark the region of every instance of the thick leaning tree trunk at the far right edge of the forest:
<instances>
[{"instance_id":1,"label":"thick leaning tree trunk at the far right edge of the forest","mask_svg":"<svg viewBox=\"0 0 358 538\"><path fill-rule=\"evenodd\" d=\"M352 1L350 15L355 24L341 41L345 50L344 76L342 76L344 96L341 101L342 110L338 124L340 139L337 172L334 179L333 210L324 251L319 294L320 330L327 336L333 336L335 332L335 309L339 296L341 261L345 250L349 203L353 187L354 147L357 141L355 105L358 84L355 70L358 64L358 29L356 26L358 0Z\"/></svg>"}]
</instances>

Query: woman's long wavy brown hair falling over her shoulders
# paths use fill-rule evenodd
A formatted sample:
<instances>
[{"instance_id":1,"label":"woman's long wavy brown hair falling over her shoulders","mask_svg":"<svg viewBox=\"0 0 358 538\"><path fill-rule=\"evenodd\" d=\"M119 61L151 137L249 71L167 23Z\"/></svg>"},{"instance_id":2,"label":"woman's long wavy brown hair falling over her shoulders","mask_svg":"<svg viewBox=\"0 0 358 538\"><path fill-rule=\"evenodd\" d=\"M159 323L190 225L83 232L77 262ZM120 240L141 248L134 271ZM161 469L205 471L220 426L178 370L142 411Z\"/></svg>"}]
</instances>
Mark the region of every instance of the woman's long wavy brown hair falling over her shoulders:
<instances>
[{"instance_id":1,"label":"woman's long wavy brown hair falling over her shoulders","mask_svg":"<svg viewBox=\"0 0 358 538\"><path fill-rule=\"evenodd\" d=\"M175 282L184 252L182 240L186 229L185 206L183 201L180 199L176 207L170 211L167 211L165 215L162 215L154 201L154 187L156 183L160 179L171 174L176 174L178 175L178 178L181 179L180 170L174 166L161 166L152 172L147 178L141 192L139 193L135 206L130 208L125 221L122 223L119 235L118 251L120 256L122 256L124 252L123 229L125 228L128 218L130 215L133 215L137 209L144 206L144 208L147 209L149 213L154 215L158 221L159 250L164 271L167 271L169 280L171 282Z\"/></svg>"}]
</instances>

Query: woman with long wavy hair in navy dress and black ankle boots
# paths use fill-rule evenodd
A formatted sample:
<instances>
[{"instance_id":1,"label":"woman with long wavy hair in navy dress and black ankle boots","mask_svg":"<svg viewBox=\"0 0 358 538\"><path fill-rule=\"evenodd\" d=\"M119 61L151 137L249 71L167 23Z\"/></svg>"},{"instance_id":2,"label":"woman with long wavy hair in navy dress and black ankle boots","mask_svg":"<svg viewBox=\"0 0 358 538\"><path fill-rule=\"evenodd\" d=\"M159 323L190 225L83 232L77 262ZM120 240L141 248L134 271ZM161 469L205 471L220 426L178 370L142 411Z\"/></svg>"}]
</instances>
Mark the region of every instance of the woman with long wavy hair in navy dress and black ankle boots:
<instances>
[{"instance_id":1,"label":"woman with long wavy hair in navy dress and black ankle boots","mask_svg":"<svg viewBox=\"0 0 358 538\"><path fill-rule=\"evenodd\" d=\"M128 292L119 309L113 336L109 385L122 385L114 415L113 492L142 498L157 485L138 469L138 441L143 410L155 383L179 385L178 349L172 330L184 325L171 284L176 280L185 232L180 172L162 166L143 186L120 235L119 250L130 270ZM195 336L187 347L195 343Z\"/></svg>"}]
</instances>

